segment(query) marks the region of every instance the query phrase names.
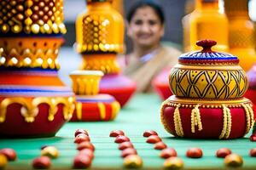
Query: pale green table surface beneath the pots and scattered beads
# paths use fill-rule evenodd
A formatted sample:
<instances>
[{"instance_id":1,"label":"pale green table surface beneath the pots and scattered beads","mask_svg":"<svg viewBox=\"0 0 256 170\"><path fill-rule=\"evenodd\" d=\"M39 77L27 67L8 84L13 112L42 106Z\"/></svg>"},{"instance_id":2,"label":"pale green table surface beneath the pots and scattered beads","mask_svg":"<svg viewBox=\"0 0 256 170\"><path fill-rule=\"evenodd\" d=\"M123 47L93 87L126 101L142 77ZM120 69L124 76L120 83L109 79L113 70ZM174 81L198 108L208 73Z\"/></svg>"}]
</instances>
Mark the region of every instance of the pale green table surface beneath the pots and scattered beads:
<instances>
[{"instance_id":1,"label":"pale green table surface beneath the pots and scattered beads","mask_svg":"<svg viewBox=\"0 0 256 170\"><path fill-rule=\"evenodd\" d=\"M232 140L213 139L177 139L167 133L160 122L161 101L156 94L137 94L130 103L119 112L113 122L68 122L55 137L42 139L0 139L0 148L13 148L18 159L10 161L6 169L31 169L32 160L40 156L42 145L54 145L60 156L52 160L52 169L70 169L73 157L77 155L76 144L73 143L73 133L78 128L87 129L92 144L95 145L95 159L90 168L94 169L121 169L123 159L118 145L110 138L109 133L121 129L131 139L138 155L143 158L144 169L158 169L163 167L164 160L159 157L160 150L154 150L154 144L147 144L143 132L149 129L159 133L163 141L177 150L177 155L184 161L185 169L221 169L224 160L215 157L219 148L228 147L234 153L243 157L245 169L256 169L256 158L248 155L249 150L256 147L247 137ZM190 147L201 147L203 157L200 159L187 158L186 150Z\"/></svg>"}]
</instances>

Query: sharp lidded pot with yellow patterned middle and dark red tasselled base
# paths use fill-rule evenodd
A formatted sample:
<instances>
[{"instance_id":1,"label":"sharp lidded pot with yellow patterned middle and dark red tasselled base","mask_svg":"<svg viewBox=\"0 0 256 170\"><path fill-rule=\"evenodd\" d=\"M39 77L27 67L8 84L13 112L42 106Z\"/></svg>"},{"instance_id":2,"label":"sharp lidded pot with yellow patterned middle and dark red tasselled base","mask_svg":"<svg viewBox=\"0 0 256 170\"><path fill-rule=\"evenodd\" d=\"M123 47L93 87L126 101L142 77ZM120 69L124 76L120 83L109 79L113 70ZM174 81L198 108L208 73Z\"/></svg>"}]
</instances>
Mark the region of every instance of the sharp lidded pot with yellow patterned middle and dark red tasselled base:
<instances>
[{"instance_id":1,"label":"sharp lidded pot with yellow patterned middle and dark red tasselled base","mask_svg":"<svg viewBox=\"0 0 256 170\"><path fill-rule=\"evenodd\" d=\"M196 43L203 49L182 54L169 77L172 95L161 106L169 133L186 138L236 139L254 123L253 105L243 98L245 71L231 54L212 51L216 42Z\"/></svg>"}]
</instances>

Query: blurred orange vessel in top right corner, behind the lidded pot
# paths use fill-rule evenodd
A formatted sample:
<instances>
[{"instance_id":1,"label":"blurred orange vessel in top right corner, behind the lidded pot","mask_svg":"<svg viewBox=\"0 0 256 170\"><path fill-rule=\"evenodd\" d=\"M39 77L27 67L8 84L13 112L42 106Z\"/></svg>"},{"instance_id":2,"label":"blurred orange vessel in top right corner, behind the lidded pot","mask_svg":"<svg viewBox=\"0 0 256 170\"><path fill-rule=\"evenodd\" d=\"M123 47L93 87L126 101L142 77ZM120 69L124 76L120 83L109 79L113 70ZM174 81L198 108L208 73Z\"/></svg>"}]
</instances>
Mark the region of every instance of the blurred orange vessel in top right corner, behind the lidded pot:
<instances>
[{"instance_id":1,"label":"blurred orange vessel in top right corner, behind the lidded pot","mask_svg":"<svg viewBox=\"0 0 256 170\"><path fill-rule=\"evenodd\" d=\"M229 19L230 53L238 56L241 68L249 71L256 63L255 28L248 14L248 0L224 0Z\"/></svg>"}]
</instances>

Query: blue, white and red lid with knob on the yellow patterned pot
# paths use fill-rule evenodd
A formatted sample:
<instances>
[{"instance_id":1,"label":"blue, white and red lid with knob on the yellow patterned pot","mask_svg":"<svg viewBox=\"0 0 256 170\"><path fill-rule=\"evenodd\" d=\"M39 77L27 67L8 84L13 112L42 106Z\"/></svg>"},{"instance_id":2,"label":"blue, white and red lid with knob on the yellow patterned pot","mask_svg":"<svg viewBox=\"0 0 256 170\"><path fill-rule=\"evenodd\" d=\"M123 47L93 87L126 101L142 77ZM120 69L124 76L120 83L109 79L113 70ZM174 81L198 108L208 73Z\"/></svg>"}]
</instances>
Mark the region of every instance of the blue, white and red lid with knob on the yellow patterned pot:
<instances>
[{"instance_id":1,"label":"blue, white and red lid with knob on the yellow patterned pot","mask_svg":"<svg viewBox=\"0 0 256 170\"><path fill-rule=\"evenodd\" d=\"M178 58L178 63L183 65L238 65L239 59L232 54L212 51L212 46L217 42L213 40L201 40L196 42L201 46L201 51L182 54Z\"/></svg>"}]
</instances>

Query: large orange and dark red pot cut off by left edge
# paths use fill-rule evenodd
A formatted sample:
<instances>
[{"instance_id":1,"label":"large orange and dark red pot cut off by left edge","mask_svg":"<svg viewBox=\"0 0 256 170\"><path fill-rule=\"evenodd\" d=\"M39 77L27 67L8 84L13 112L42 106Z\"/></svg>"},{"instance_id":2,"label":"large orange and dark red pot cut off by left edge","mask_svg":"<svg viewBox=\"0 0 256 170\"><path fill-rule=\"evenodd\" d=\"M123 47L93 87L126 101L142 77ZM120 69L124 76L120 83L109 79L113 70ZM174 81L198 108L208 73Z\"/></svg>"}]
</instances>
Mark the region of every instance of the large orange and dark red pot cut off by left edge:
<instances>
[{"instance_id":1,"label":"large orange and dark red pot cut off by left edge","mask_svg":"<svg viewBox=\"0 0 256 170\"><path fill-rule=\"evenodd\" d=\"M54 136L74 109L58 77L62 0L0 3L1 138Z\"/></svg>"}]
</instances>

